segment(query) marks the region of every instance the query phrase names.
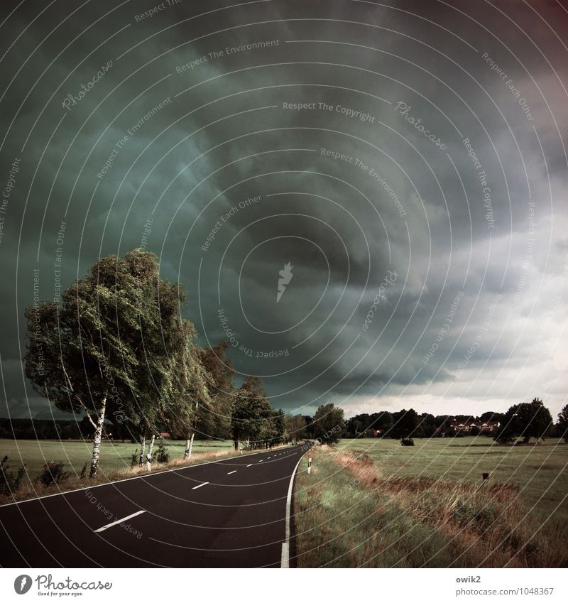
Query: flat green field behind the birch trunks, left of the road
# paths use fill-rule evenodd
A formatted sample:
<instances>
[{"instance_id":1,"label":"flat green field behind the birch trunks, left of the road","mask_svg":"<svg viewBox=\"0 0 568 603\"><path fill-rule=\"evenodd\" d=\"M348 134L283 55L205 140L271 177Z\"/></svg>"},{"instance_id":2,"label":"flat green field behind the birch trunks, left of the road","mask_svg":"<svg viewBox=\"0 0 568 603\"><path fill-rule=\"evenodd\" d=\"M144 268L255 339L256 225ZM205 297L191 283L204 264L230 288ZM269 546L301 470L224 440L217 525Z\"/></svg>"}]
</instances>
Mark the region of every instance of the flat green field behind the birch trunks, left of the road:
<instances>
[{"instance_id":1,"label":"flat green field behind the birch trunks, left of the road","mask_svg":"<svg viewBox=\"0 0 568 603\"><path fill-rule=\"evenodd\" d=\"M181 440L164 440L170 460L181 458L185 442ZM195 440L192 452L231 452L233 442L230 440ZM102 442L99 470L102 473L129 469L135 450L140 446L122 442ZM158 444L154 445L154 453ZM0 440L0 458L8 455L12 471L26 464L28 474L37 474L43 469L45 462L65 463L65 470L80 474L87 463L87 474L92 455L92 442L80 440Z\"/></svg>"}]
</instances>

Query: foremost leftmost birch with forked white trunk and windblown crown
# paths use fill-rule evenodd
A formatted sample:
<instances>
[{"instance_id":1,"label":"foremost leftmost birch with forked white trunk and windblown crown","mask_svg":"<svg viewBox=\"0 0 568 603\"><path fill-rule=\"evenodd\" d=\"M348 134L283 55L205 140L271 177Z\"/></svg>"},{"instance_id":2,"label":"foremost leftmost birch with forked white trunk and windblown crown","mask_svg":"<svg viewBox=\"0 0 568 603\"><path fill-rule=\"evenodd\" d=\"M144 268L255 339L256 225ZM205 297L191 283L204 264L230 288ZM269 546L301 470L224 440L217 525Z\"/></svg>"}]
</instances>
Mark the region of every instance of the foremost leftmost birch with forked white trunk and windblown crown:
<instances>
[{"instance_id":1,"label":"foremost leftmost birch with forked white trunk and windblown crown","mask_svg":"<svg viewBox=\"0 0 568 603\"><path fill-rule=\"evenodd\" d=\"M93 428L90 476L97 474L104 420L121 413L119 385L132 386L136 354L121 342L117 320L130 300L114 280L116 258L99 261L58 303L26 308L28 351L26 376L41 396L61 411L83 413Z\"/></svg>"}]
</instances>

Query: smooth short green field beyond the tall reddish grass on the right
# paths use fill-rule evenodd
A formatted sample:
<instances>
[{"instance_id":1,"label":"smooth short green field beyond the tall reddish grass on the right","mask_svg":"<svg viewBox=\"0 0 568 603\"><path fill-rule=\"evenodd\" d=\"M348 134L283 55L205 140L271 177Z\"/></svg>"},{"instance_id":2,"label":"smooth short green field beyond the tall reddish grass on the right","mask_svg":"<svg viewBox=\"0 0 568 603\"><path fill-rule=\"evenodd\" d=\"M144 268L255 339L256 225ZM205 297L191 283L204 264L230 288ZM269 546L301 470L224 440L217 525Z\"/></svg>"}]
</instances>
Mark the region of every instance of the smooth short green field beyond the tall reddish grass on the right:
<instances>
[{"instance_id":1,"label":"smooth short green field beyond the tall reddish grass on the right","mask_svg":"<svg viewBox=\"0 0 568 603\"><path fill-rule=\"evenodd\" d=\"M568 445L546 440L530 446L496 445L491 438L416 439L414 446L398 440L341 440L339 447L356 455L366 452L385 477L433 477L513 484L532 513L568 522ZM564 500L563 500L564 499Z\"/></svg>"}]
</instances>

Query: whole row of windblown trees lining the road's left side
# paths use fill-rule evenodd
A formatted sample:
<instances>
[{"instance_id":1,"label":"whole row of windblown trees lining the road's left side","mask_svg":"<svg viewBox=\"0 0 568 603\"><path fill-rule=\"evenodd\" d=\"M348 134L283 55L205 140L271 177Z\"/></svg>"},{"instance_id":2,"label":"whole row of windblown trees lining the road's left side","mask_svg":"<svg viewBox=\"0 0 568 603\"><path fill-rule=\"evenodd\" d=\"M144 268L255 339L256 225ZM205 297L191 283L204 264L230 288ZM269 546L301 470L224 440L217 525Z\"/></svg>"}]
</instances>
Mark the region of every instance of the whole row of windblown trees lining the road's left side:
<instances>
[{"instance_id":1,"label":"whole row of windblown trees lining the road's left side","mask_svg":"<svg viewBox=\"0 0 568 603\"><path fill-rule=\"evenodd\" d=\"M140 442L141 463L164 429L185 439L186 458L196 433L231 433L235 448L302 437L304 420L274 411L258 377L234 385L227 342L197 345L180 314L185 301L180 284L160 278L157 258L135 249L101 259L61 303L26 308L26 376L61 411L89 421L91 477L105 425Z\"/></svg>"}]
</instances>

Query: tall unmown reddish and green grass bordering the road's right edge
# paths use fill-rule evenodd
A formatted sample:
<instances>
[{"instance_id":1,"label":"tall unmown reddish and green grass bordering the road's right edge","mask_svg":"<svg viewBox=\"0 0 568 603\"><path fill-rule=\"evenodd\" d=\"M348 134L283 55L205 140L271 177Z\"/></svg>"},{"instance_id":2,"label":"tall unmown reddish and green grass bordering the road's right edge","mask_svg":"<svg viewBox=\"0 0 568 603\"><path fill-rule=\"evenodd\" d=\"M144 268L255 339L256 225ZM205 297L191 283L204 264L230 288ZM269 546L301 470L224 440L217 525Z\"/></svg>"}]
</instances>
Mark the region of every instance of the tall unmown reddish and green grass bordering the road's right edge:
<instances>
[{"instance_id":1,"label":"tall unmown reddish and green grass bordering the road's right edge","mask_svg":"<svg viewBox=\"0 0 568 603\"><path fill-rule=\"evenodd\" d=\"M399 444L400 445L400 444ZM318 447L295 482L298 567L565 567L566 526L512 484L392 477L370 455Z\"/></svg>"}]
</instances>

